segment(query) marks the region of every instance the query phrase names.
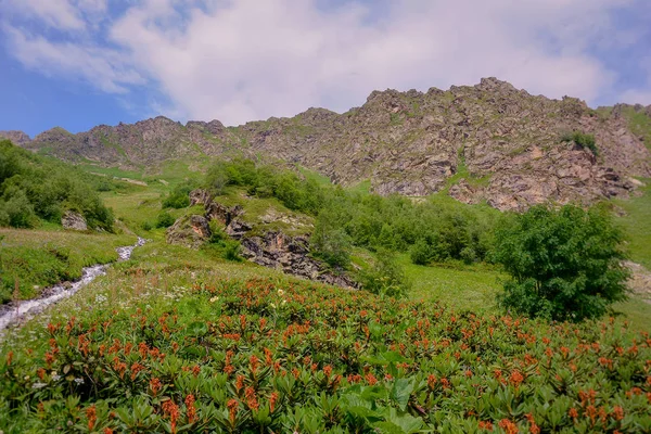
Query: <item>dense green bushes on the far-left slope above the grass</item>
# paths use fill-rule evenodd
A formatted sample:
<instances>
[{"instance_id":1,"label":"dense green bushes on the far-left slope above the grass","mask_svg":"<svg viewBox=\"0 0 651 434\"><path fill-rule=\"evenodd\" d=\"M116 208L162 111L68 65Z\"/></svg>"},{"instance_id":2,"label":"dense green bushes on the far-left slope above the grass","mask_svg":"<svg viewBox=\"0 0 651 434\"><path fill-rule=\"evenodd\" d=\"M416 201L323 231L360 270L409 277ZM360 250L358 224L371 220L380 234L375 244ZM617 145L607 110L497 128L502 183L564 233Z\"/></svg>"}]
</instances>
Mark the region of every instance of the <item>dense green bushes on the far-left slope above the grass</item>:
<instances>
[{"instance_id":1,"label":"dense green bushes on the far-left slope above the grass","mask_svg":"<svg viewBox=\"0 0 651 434\"><path fill-rule=\"evenodd\" d=\"M0 141L0 227L60 224L65 210L74 210L89 227L111 231L113 214L98 194L110 188L106 180Z\"/></svg>"}]
</instances>

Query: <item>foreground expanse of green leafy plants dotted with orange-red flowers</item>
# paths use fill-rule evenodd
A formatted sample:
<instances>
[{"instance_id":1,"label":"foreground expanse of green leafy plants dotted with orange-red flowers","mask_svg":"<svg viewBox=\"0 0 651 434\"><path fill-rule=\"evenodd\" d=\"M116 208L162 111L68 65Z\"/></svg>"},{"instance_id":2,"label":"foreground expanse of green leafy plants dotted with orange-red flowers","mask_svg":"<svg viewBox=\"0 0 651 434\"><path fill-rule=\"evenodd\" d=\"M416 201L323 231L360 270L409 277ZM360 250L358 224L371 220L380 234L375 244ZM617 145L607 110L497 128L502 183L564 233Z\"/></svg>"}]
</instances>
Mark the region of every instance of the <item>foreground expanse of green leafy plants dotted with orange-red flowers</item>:
<instances>
[{"instance_id":1,"label":"foreground expanse of green leafy plants dotted with orange-red flowers","mask_svg":"<svg viewBox=\"0 0 651 434\"><path fill-rule=\"evenodd\" d=\"M202 279L119 309L100 293L93 309L3 345L0 430L651 430L651 348L618 321L549 324L306 282Z\"/></svg>"}]
</instances>

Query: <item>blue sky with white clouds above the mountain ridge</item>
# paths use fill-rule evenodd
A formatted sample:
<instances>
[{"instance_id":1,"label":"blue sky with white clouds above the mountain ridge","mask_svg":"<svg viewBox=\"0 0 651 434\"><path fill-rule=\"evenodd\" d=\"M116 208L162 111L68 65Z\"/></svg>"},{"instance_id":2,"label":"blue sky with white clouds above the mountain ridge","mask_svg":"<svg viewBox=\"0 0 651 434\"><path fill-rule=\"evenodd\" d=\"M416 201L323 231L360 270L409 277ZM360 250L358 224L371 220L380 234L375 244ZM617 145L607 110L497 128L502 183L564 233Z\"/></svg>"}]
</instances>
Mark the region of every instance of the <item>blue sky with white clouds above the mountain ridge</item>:
<instances>
[{"instance_id":1,"label":"blue sky with white clouds above the mountain ridge","mask_svg":"<svg viewBox=\"0 0 651 434\"><path fill-rule=\"evenodd\" d=\"M0 130L342 113L510 81L651 104L649 0L0 0Z\"/></svg>"}]
</instances>

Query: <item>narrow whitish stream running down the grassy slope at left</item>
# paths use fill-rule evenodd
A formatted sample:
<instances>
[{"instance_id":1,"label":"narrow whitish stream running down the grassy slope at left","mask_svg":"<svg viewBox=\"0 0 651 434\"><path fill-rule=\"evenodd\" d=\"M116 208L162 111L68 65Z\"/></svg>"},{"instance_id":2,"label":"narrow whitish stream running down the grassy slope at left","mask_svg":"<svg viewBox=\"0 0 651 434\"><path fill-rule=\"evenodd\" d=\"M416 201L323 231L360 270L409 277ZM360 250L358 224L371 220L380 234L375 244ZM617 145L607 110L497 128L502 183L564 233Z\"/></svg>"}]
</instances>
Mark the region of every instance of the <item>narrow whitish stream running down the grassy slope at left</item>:
<instances>
[{"instance_id":1,"label":"narrow whitish stream running down the grassy slope at left","mask_svg":"<svg viewBox=\"0 0 651 434\"><path fill-rule=\"evenodd\" d=\"M133 245L117 247L117 261L127 260L131 257L133 250L144 245L145 240L138 237L138 242ZM0 333L11 324L33 318L42 312L48 306L56 302L74 295L81 288L86 286L99 276L106 273L106 269L111 264L93 265L81 270L81 278L72 283L60 283L54 286L47 288L38 298L12 302L4 306L0 306Z\"/></svg>"}]
</instances>

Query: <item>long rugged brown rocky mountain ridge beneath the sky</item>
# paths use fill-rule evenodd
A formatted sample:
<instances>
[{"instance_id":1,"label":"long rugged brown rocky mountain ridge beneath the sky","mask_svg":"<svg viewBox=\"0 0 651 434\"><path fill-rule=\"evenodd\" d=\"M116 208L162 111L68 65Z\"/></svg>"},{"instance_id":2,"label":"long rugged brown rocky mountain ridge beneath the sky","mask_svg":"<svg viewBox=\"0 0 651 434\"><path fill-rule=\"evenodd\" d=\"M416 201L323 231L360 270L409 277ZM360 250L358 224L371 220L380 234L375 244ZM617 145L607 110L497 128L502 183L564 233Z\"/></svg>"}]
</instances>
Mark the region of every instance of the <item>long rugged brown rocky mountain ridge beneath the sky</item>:
<instances>
[{"instance_id":1,"label":"long rugged brown rocky mountain ridge beneath the sky","mask_svg":"<svg viewBox=\"0 0 651 434\"><path fill-rule=\"evenodd\" d=\"M572 140L591 135L598 153ZM647 143L644 143L647 141ZM524 209L548 201L626 195L651 177L651 106L592 110L485 78L476 86L374 91L344 114L309 108L240 127L156 117L72 135L54 128L23 146L72 162L127 168L169 158L268 156L380 194L446 191L467 203Z\"/></svg>"}]
</instances>

